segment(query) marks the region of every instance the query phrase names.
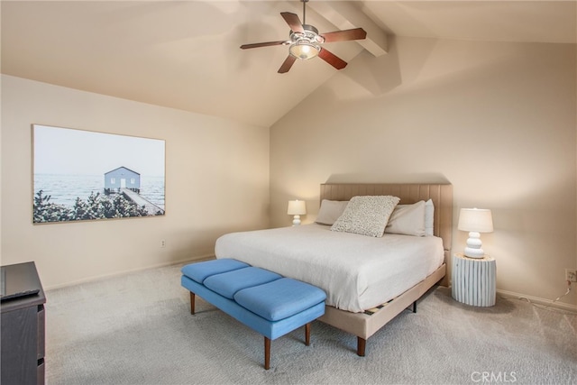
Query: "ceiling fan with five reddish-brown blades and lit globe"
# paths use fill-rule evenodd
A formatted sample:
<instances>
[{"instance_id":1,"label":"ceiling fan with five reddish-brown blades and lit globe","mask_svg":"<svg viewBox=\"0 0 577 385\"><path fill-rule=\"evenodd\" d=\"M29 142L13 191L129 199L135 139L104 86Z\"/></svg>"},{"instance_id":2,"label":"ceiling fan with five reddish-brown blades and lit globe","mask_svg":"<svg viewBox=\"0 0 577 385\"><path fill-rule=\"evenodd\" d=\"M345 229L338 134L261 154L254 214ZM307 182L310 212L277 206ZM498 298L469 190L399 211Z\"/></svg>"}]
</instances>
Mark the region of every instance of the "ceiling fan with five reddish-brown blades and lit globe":
<instances>
[{"instance_id":1,"label":"ceiling fan with five reddish-brown blades and lit globe","mask_svg":"<svg viewBox=\"0 0 577 385\"><path fill-rule=\"evenodd\" d=\"M321 44L334 41L362 40L367 37L367 32L362 28L353 28L351 30L318 33L318 30L313 25L306 24L306 6L308 0L301 1L303 2L303 23L300 23L297 14L291 14L290 12L280 13L282 18L285 19L285 22L289 24L289 40L243 44L241 49L246 50L249 48L269 47L273 45L289 45L289 56L280 66L279 74L289 72L289 69L297 59L309 60L317 56L325 60L335 69L345 68L346 61L321 47Z\"/></svg>"}]
</instances>

